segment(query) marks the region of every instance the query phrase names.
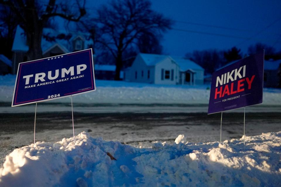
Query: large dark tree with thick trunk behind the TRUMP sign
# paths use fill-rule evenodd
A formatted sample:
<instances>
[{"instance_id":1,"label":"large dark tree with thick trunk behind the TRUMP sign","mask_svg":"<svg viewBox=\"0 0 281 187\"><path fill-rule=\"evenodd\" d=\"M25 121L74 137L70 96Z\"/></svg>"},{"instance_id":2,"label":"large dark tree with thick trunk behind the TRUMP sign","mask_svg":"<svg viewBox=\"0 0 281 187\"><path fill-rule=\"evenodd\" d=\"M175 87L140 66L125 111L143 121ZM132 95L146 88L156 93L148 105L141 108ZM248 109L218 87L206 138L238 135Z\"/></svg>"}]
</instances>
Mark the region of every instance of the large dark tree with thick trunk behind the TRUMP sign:
<instances>
[{"instance_id":1,"label":"large dark tree with thick trunk behind the TRUMP sign","mask_svg":"<svg viewBox=\"0 0 281 187\"><path fill-rule=\"evenodd\" d=\"M9 6L18 17L23 28L29 47L28 60L42 58L41 40L45 24L54 16L59 16L69 21L79 21L85 15L85 0L80 1L46 1L36 0L0 0L0 4Z\"/></svg>"}]
</instances>

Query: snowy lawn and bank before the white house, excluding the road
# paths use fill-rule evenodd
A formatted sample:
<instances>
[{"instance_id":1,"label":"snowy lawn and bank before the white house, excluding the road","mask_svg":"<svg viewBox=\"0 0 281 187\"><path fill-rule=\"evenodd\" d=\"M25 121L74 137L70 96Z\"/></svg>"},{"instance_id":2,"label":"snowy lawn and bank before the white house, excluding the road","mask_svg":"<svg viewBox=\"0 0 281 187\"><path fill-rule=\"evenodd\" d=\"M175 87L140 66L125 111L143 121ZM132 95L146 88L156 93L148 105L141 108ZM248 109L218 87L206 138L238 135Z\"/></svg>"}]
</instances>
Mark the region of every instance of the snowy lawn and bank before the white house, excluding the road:
<instances>
[{"instance_id":1,"label":"snowy lawn and bank before the white house, excluding the road","mask_svg":"<svg viewBox=\"0 0 281 187\"><path fill-rule=\"evenodd\" d=\"M15 75L0 76L0 102L11 103ZM155 85L124 81L96 80L96 91L76 95L74 103L123 104L205 104L209 103L210 85ZM52 103L69 103L62 98ZM264 105L280 105L281 89L264 89Z\"/></svg>"}]
</instances>

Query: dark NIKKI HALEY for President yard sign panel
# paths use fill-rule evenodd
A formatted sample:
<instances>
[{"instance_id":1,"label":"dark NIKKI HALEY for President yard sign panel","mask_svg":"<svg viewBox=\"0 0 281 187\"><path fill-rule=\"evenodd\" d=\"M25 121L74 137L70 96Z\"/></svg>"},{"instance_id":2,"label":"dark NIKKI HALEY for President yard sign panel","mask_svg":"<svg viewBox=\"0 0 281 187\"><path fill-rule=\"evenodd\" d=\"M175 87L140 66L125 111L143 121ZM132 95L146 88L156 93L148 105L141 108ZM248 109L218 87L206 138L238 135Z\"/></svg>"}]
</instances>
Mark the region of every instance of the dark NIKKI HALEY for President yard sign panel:
<instances>
[{"instance_id":1,"label":"dark NIKKI HALEY for President yard sign panel","mask_svg":"<svg viewBox=\"0 0 281 187\"><path fill-rule=\"evenodd\" d=\"M208 114L262 103L263 64L264 51L214 72Z\"/></svg>"}]
</instances>

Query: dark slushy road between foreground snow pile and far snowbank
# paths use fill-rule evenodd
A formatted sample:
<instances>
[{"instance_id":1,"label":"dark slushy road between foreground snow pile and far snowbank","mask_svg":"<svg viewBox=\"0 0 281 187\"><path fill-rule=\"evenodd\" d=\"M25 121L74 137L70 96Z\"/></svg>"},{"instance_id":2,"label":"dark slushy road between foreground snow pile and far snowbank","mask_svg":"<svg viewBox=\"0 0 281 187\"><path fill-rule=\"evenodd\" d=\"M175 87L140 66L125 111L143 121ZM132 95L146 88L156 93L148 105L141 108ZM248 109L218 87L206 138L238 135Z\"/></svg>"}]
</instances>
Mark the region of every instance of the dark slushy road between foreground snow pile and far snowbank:
<instances>
[{"instance_id":1,"label":"dark slushy road between foreground snow pile and far snowbank","mask_svg":"<svg viewBox=\"0 0 281 187\"><path fill-rule=\"evenodd\" d=\"M224 113L222 140L241 138L244 113ZM190 142L220 140L220 113L74 113L75 134L149 147L153 141L173 143L179 134ZM13 149L33 143L34 113L0 113L0 165ZM280 112L246 113L246 135L281 130ZM36 141L72 137L71 112L37 113Z\"/></svg>"}]
</instances>

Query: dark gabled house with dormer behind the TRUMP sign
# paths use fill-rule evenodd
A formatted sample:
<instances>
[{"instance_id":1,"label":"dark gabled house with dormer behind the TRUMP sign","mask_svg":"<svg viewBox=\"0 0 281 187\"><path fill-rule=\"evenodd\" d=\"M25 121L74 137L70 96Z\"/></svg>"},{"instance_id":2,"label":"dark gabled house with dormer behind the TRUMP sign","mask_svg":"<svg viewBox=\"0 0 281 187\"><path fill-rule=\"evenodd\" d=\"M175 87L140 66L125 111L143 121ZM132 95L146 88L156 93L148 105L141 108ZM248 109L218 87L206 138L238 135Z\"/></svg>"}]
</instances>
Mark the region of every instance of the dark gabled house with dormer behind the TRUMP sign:
<instances>
[{"instance_id":1,"label":"dark gabled house with dormer behind the TRUMP sign","mask_svg":"<svg viewBox=\"0 0 281 187\"><path fill-rule=\"evenodd\" d=\"M42 34L42 52L43 58L71 53L88 49L92 41L82 33L67 33L44 28ZM28 45L24 30L17 26L15 38L13 41L12 74L18 71L18 64L27 61Z\"/></svg>"}]
</instances>

